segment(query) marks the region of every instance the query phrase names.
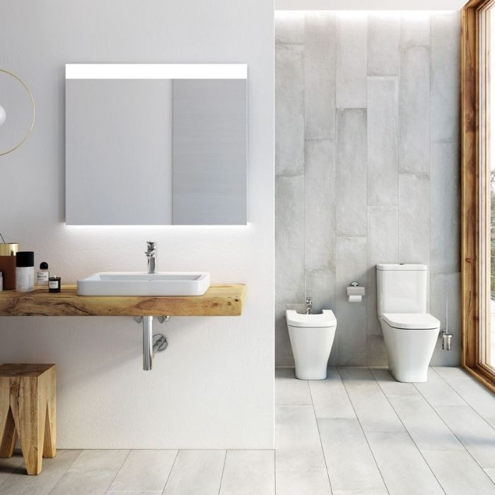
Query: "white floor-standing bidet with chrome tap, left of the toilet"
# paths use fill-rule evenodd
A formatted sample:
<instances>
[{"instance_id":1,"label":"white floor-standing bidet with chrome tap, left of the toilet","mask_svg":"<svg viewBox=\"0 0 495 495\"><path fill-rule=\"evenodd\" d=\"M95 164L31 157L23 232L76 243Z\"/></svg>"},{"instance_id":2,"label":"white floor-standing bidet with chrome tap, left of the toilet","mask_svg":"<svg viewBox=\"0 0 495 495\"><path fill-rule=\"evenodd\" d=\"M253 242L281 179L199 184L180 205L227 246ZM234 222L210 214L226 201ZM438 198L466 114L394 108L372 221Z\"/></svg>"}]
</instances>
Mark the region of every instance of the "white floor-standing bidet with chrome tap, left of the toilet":
<instances>
[{"instance_id":1,"label":"white floor-standing bidet with chrome tap, left of the toilet","mask_svg":"<svg viewBox=\"0 0 495 495\"><path fill-rule=\"evenodd\" d=\"M337 328L331 310L306 315L286 310L287 327L299 380L325 380L327 363Z\"/></svg>"}]
</instances>

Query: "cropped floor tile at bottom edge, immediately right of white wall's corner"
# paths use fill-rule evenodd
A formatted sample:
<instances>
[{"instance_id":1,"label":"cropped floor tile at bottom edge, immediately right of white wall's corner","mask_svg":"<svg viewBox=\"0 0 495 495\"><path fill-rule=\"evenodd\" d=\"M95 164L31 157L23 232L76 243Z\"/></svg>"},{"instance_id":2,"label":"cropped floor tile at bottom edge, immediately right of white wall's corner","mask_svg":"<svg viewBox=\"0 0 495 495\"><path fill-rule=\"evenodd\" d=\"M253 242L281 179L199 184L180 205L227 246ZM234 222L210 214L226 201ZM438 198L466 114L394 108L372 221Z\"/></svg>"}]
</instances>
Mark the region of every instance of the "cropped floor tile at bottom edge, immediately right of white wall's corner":
<instances>
[{"instance_id":1,"label":"cropped floor tile at bottom edge, immediately right of white wall's corner","mask_svg":"<svg viewBox=\"0 0 495 495\"><path fill-rule=\"evenodd\" d=\"M276 470L276 495L332 495L327 470Z\"/></svg>"}]
</instances>

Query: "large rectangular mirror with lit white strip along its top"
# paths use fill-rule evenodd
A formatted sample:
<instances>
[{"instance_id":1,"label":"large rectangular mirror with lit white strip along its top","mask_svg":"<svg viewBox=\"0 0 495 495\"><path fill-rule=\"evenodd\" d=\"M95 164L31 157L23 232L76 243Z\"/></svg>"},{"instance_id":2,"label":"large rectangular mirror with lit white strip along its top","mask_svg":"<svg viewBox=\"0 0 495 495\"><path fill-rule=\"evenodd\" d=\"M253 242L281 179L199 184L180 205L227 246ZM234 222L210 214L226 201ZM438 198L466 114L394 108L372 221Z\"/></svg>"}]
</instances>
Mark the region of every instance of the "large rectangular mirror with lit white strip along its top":
<instances>
[{"instance_id":1,"label":"large rectangular mirror with lit white strip along its top","mask_svg":"<svg viewBox=\"0 0 495 495\"><path fill-rule=\"evenodd\" d=\"M66 223L240 225L245 64L67 64Z\"/></svg>"}]
</instances>

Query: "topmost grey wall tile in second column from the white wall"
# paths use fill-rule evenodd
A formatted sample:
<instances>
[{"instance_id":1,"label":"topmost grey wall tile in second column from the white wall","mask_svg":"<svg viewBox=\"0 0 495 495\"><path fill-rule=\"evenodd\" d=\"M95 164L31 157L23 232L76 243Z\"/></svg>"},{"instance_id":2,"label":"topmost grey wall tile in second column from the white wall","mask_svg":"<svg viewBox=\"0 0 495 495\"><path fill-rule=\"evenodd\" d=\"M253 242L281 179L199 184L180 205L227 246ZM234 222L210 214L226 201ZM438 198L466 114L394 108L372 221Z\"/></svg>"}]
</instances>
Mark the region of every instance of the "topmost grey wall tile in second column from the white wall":
<instances>
[{"instance_id":1,"label":"topmost grey wall tile in second column from the white wall","mask_svg":"<svg viewBox=\"0 0 495 495\"><path fill-rule=\"evenodd\" d=\"M335 137L335 14L305 15L305 137Z\"/></svg>"}]
</instances>

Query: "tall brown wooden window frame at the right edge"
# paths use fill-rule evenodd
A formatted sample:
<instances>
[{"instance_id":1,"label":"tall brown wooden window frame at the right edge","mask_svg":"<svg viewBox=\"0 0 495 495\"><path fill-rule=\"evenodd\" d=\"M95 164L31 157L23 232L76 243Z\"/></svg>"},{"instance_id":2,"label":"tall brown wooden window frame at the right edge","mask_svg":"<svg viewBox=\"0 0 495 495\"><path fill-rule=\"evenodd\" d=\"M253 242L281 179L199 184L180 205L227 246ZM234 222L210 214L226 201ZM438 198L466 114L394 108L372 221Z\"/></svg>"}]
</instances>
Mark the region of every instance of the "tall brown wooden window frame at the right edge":
<instances>
[{"instance_id":1,"label":"tall brown wooden window frame at the right edge","mask_svg":"<svg viewBox=\"0 0 495 495\"><path fill-rule=\"evenodd\" d=\"M487 139L489 114L480 112L480 101L487 105L484 94L489 73L482 57L483 38L480 14L495 5L495 0L471 0L462 8L461 38L461 282L462 282L462 367L495 392L494 369L484 364L480 340L480 322L489 318L488 296L481 291L487 269L480 267L480 228L489 219L485 174L489 165ZM483 52L484 53L484 52ZM482 161L482 167L479 165ZM488 241L487 241L488 244ZM484 301L482 301L484 299Z\"/></svg>"}]
</instances>

